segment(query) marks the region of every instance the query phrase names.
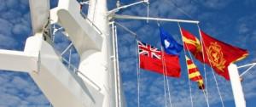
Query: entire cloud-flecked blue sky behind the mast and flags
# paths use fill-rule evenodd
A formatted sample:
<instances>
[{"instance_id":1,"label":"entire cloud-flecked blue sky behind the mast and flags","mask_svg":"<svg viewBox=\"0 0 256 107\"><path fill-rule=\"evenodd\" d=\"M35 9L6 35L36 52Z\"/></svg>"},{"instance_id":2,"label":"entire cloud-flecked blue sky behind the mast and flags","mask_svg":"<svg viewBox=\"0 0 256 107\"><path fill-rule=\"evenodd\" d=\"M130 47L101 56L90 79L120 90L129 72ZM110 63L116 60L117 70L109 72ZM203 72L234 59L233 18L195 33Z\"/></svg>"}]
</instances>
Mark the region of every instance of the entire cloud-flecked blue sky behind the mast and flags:
<instances>
[{"instance_id":1,"label":"entire cloud-flecked blue sky behind the mast and flags","mask_svg":"<svg viewBox=\"0 0 256 107\"><path fill-rule=\"evenodd\" d=\"M25 40L32 34L30 10L28 0L0 0L0 48L11 50L23 50ZM134 3L135 0L121 0L122 4ZM52 0L52 6L56 4ZM115 1L108 0L109 8L113 8ZM149 15L152 17L174 18L184 20L200 20L201 30L207 32L218 40L228 42L249 51L247 59L236 63L244 65L256 60L256 1L255 0L157 0L150 1ZM145 16L145 5L127 8L119 14L131 14ZM186 13L186 14L184 14ZM160 48L160 34L156 22L137 20L117 20L120 24L135 31L138 39L148 42ZM160 24L181 42L177 23L160 22ZM196 25L181 24L198 37ZM137 105L137 69L136 69L136 45L131 34L121 28L119 33L119 67L122 73L123 87L128 107ZM56 34L55 48L62 51L69 41L61 32ZM73 64L78 65L78 54L73 51ZM169 85L172 95L172 105L175 107L189 107L189 82L184 63L183 52L180 57L182 77L179 79L169 77ZM195 64L204 75L203 65L195 60ZM247 100L247 106L253 107L256 99L256 69L244 76L242 87ZM242 72L243 70L240 70ZM210 106L221 106L212 71L207 66L207 88L209 90ZM218 87L224 99L226 107L235 106L230 82L217 76ZM207 106L203 94L192 82L193 102L196 107ZM0 106L49 106L49 101L26 73L12 71L0 71ZM164 88L163 76L150 71L141 70L141 107L163 107Z\"/></svg>"}]
</instances>

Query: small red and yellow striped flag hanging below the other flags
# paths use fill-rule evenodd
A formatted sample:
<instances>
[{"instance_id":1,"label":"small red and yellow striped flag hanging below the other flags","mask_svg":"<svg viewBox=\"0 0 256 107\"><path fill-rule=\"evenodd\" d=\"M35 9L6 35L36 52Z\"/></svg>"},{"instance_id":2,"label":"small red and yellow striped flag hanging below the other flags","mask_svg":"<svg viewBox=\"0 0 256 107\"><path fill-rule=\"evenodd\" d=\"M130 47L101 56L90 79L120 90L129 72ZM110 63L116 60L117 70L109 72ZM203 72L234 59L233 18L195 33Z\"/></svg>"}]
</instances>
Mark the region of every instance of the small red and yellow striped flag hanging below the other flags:
<instances>
[{"instance_id":1,"label":"small red and yellow striped flag hanging below the other flags","mask_svg":"<svg viewBox=\"0 0 256 107\"><path fill-rule=\"evenodd\" d=\"M187 57L187 55L186 55L186 62L187 62L187 68L189 71L189 79L193 82L197 82L198 87L200 89L205 89L203 78L202 78L198 68L193 63L193 61L191 59L189 59L189 57Z\"/></svg>"}]
</instances>

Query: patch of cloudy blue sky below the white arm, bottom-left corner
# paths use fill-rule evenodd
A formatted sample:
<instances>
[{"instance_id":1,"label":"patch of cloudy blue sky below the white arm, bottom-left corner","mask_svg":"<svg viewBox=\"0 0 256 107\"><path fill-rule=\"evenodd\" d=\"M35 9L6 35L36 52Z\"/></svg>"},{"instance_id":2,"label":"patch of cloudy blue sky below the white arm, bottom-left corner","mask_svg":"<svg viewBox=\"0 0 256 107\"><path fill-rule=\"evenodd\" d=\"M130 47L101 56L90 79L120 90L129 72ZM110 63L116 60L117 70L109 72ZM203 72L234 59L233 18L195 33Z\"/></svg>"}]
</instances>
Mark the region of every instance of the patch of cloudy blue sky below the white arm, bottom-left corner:
<instances>
[{"instance_id":1,"label":"patch of cloudy blue sky below the white arm, bottom-left corner","mask_svg":"<svg viewBox=\"0 0 256 107\"><path fill-rule=\"evenodd\" d=\"M23 73L1 71L0 106L49 106L36 84L27 77Z\"/></svg>"}]
</instances>

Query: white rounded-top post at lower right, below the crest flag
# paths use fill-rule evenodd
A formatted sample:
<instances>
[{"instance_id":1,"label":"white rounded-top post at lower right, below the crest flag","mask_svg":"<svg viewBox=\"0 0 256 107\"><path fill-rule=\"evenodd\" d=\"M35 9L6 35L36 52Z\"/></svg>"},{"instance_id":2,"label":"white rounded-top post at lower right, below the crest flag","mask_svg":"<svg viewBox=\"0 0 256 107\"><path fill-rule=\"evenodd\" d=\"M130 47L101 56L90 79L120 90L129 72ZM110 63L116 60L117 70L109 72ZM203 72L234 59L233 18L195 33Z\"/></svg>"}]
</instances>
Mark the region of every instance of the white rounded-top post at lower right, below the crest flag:
<instances>
[{"instance_id":1,"label":"white rounded-top post at lower right, below the crest flag","mask_svg":"<svg viewBox=\"0 0 256 107\"><path fill-rule=\"evenodd\" d=\"M235 64L230 64L228 69L236 107L246 107L237 66Z\"/></svg>"}]
</instances>

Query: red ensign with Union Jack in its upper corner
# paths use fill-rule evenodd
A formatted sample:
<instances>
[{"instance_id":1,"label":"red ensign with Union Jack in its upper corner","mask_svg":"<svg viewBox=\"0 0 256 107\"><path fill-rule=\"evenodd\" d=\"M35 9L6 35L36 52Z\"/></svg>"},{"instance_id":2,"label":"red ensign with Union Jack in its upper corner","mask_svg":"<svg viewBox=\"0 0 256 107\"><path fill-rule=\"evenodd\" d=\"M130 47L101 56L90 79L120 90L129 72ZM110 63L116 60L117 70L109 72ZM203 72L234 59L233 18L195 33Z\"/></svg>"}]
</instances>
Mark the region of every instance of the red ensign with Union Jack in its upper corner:
<instances>
[{"instance_id":1,"label":"red ensign with Union Jack in its upper corner","mask_svg":"<svg viewBox=\"0 0 256 107\"><path fill-rule=\"evenodd\" d=\"M166 76L180 77L181 68L177 55L163 53L165 54L163 59L162 52L159 49L143 42L137 42L139 49L140 68L144 70L151 70Z\"/></svg>"}]
</instances>

